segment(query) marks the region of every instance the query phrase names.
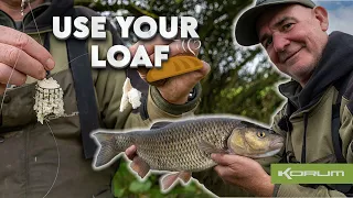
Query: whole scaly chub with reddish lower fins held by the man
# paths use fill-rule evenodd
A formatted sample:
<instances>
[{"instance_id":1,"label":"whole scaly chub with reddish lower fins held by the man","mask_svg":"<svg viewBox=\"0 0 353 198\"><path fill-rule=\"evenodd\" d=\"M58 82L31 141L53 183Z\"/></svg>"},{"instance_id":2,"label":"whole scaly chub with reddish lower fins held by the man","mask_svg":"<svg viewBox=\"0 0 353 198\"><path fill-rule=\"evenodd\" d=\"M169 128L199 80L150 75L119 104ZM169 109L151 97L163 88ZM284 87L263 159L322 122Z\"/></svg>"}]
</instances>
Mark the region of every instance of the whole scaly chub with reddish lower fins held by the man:
<instances>
[{"instance_id":1,"label":"whole scaly chub with reddish lower fins held by the man","mask_svg":"<svg viewBox=\"0 0 353 198\"><path fill-rule=\"evenodd\" d=\"M127 147L136 145L138 157L131 168L141 177L150 169L176 172L162 178L163 189L178 177L186 183L192 172L215 166L212 153L260 158L277 154L284 145L284 138L269 129L222 117L157 122L146 131L98 130L93 136L99 145L93 165L96 169L108 166Z\"/></svg>"}]
</instances>

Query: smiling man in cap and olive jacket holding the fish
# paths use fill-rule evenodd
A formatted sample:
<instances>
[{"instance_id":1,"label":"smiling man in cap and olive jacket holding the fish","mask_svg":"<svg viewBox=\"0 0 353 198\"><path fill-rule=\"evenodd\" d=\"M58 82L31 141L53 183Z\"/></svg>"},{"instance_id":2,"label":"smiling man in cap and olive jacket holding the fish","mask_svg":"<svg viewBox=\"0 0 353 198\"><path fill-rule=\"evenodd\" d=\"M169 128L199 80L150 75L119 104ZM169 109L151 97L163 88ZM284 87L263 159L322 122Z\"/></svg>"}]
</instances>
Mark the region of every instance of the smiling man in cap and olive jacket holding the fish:
<instances>
[{"instance_id":1,"label":"smiling man in cap and olive jacket holding the fish","mask_svg":"<svg viewBox=\"0 0 353 198\"><path fill-rule=\"evenodd\" d=\"M215 151L217 165L193 173L207 189L218 196L353 196L351 184L274 185L269 176L271 163L353 163L353 36L328 35L328 28L327 10L310 0L257 0L240 15L237 42L261 44L291 77L279 86L288 101L271 128L287 138L281 152L256 161ZM136 148L126 151L129 158Z\"/></svg>"}]
</instances>

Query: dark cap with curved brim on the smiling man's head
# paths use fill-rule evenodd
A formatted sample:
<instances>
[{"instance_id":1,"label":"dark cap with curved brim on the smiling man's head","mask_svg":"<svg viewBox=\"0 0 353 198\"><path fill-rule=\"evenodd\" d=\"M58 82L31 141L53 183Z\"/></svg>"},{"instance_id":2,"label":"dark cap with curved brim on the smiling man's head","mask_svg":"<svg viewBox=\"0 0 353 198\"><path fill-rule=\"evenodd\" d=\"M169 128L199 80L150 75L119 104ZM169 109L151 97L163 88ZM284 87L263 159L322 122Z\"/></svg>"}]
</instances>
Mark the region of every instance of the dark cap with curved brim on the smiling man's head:
<instances>
[{"instance_id":1,"label":"dark cap with curved brim on the smiling man's head","mask_svg":"<svg viewBox=\"0 0 353 198\"><path fill-rule=\"evenodd\" d=\"M257 18L264 11L269 11L269 7L286 3L299 3L309 8L315 7L311 0L257 0L255 7L244 12L236 23L235 37L238 44L244 46L258 44L259 40L256 33Z\"/></svg>"}]
</instances>

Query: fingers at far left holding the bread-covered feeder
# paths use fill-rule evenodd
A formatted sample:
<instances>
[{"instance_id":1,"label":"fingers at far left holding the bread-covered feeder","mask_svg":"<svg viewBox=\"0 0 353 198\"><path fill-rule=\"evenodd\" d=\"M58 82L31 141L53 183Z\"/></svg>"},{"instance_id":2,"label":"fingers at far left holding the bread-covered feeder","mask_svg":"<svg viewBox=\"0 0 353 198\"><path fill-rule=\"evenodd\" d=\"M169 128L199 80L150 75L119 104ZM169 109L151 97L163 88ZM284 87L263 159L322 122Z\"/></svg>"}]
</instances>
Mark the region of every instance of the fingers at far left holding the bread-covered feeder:
<instances>
[{"instance_id":1,"label":"fingers at far left holding the bread-covered feeder","mask_svg":"<svg viewBox=\"0 0 353 198\"><path fill-rule=\"evenodd\" d=\"M6 85L21 86L26 75L36 79L45 78L45 70L54 68L52 55L29 35L0 25L0 95ZM15 67L13 69L13 67Z\"/></svg>"}]
</instances>

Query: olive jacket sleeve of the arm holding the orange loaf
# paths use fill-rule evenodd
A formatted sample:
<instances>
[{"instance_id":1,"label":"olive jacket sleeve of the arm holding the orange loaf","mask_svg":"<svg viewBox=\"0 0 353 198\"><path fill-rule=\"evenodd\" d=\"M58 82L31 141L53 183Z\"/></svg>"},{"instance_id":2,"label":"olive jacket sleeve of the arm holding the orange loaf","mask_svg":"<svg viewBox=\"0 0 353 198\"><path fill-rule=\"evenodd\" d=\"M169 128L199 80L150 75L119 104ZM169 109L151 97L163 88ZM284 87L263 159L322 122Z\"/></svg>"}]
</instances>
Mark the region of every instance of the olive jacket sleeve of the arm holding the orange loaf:
<instances>
[{"instance_id":1,"label":"olive jacket sleeve of the arm holding the orange loaf","mask_svg":"<svg viewBox=\"0 0 353 198\"><path fill-rule=\"evenodd\" d=\"M122 44L116 30L114 30L111 25L109 26L110 31L107 32L105 41L90 41L88 43L88 46L93 44L99 46L100 59L106 59L106 54L110 46ZM183 114L193 113L196 109L201 95L200 85L194 88L195 97L185 105L171 105L162 98L156 87L149 87L138 74L133 73L137 72L132 69L114 68L93 69L100 120L107 129L145 128L156 119L180 118ZM142 89L140 90L143 96L141 99L142 105L139 110L132 111L131 106L129 106L124 112L120 112L122 86L127 76L135 76L135 78L130 77L132 86L138 90L140 90L140 88Z\"/></svg>"}]
</instances>

